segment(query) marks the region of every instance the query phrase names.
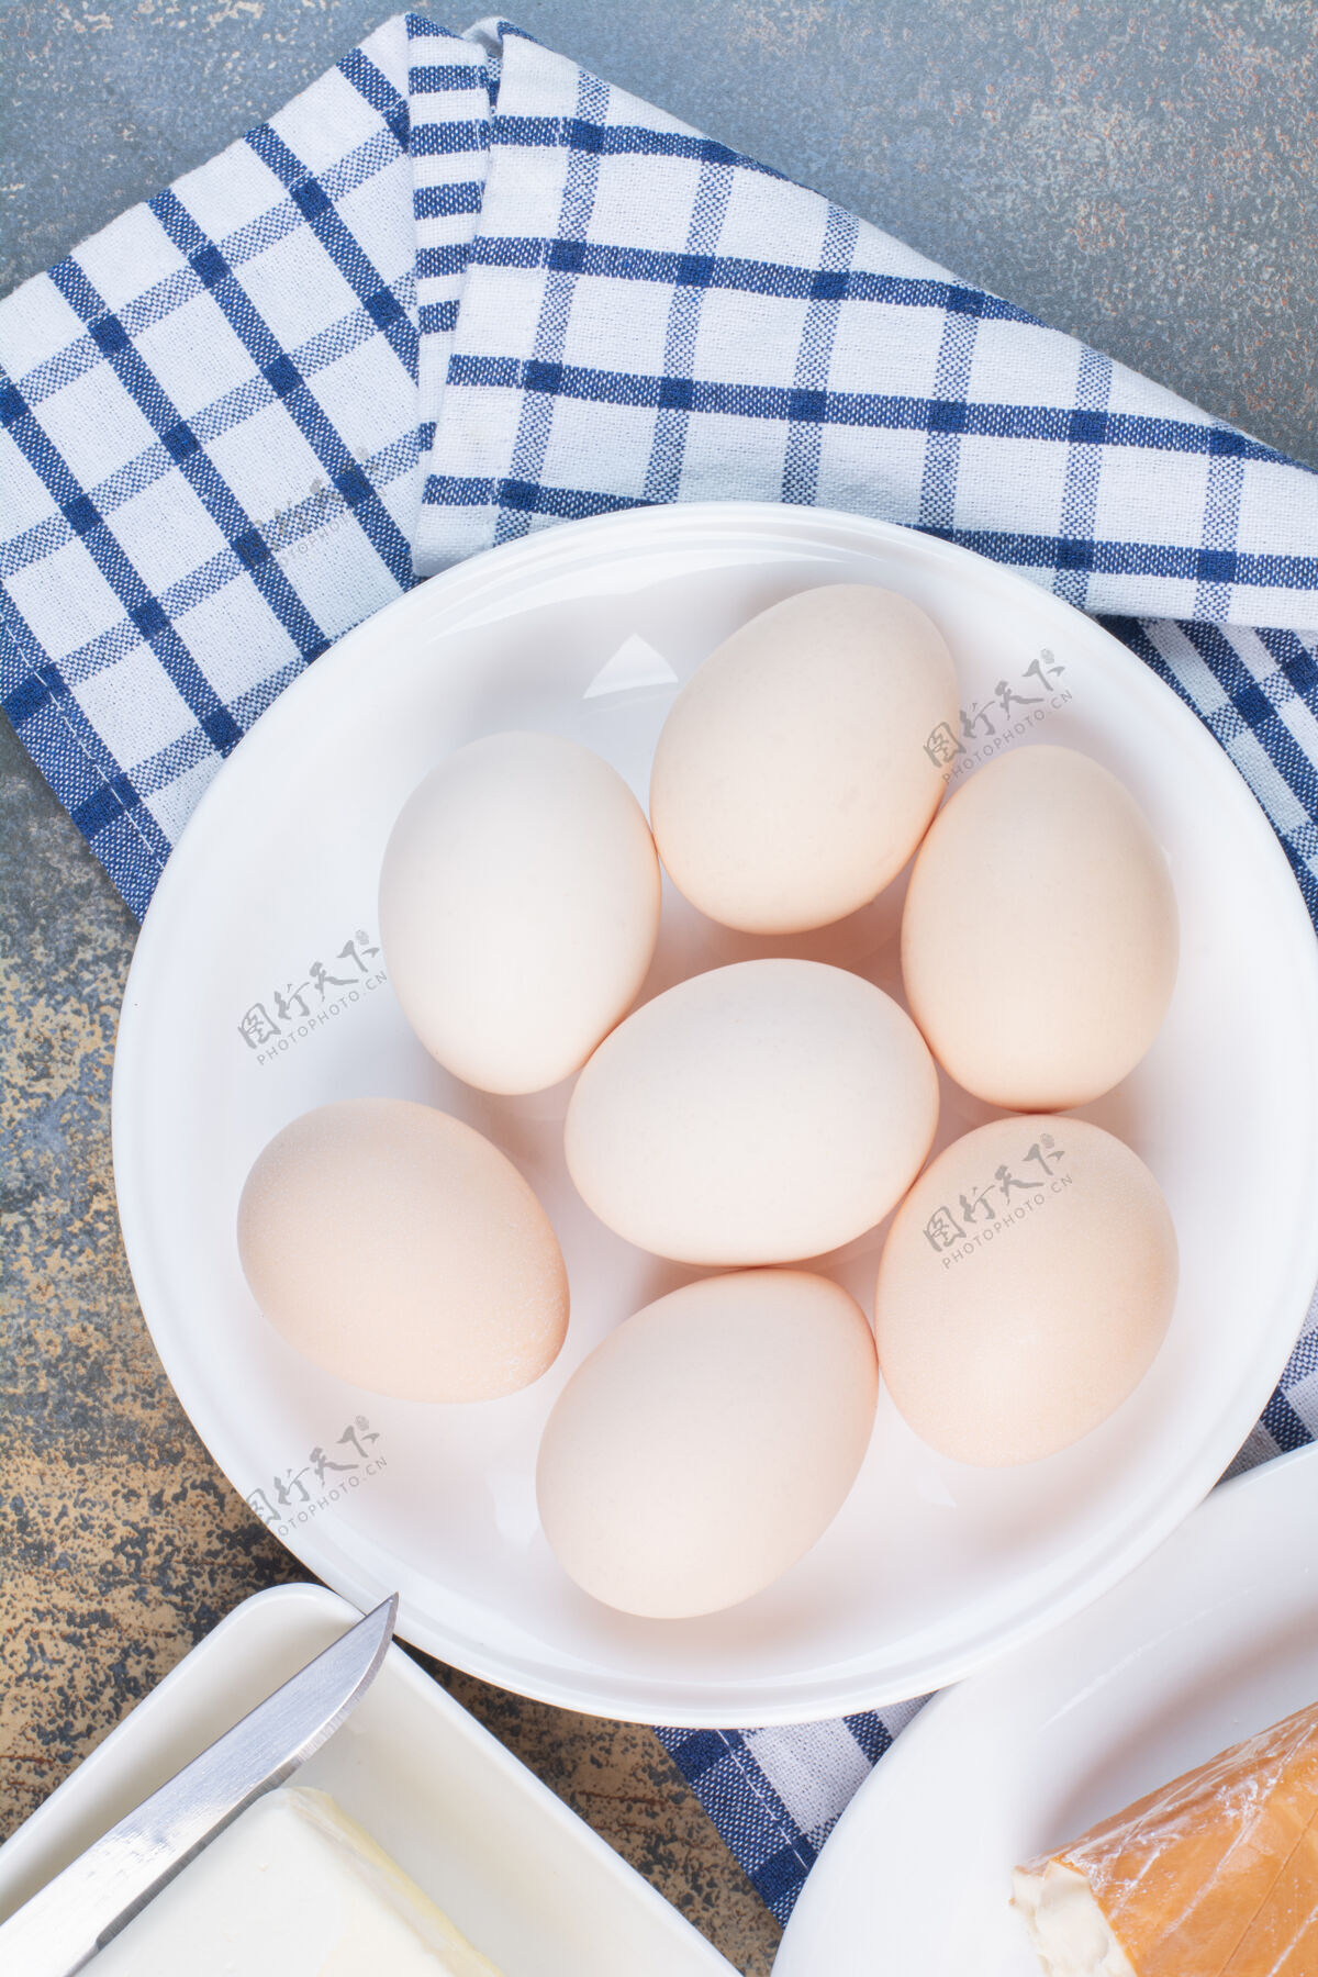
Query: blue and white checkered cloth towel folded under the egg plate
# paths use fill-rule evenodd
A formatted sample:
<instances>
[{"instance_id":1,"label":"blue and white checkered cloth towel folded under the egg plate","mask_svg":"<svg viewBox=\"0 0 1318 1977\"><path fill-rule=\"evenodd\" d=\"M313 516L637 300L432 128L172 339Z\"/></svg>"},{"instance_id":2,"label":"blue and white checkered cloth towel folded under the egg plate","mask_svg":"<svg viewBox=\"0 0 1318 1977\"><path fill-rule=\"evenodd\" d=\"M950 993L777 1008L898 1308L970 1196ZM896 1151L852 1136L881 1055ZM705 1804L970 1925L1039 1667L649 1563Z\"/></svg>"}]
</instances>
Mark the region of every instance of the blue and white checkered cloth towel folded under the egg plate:
<instances>
[{"instance_id":1,"label":"blue and white checkered cloth towel folded under the egg plate","mask_svg":"<svg viewBox=\"0 0 1318 1977\"><path fill-rule=\"evenodd\" d=\"M1318 476L502 22L387 22L0 304L0 694L140 913L223 755L415 577L636 502L820 502L1182 692L1318 913ZM1318 1433L1318 1332L1245 1459ZM664 1732L786 1916L911 1706Z\"/></svg>"}]
</instances>

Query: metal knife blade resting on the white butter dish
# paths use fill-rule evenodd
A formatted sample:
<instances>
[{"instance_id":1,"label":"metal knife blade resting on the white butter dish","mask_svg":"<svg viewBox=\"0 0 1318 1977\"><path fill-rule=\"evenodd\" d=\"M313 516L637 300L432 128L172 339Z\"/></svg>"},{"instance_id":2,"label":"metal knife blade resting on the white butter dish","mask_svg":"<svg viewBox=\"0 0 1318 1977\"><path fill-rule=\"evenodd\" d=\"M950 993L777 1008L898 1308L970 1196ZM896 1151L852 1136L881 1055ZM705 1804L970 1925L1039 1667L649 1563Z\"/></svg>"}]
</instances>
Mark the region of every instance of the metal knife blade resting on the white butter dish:
<instances>
[{"instance_id":1,"label":"metal knife blade resting on the white butter dish","mask_svg":"<svg viewBox=\"0 0 1318 1977\"><path fill-rule=\"evenodd\" d=\"M395 1619L397 1593L24 1902L0 1924L4 1977L83 1969L253 1799L283 1785L338 1730L375 1680Z\"/></svg>"}]
</instances>

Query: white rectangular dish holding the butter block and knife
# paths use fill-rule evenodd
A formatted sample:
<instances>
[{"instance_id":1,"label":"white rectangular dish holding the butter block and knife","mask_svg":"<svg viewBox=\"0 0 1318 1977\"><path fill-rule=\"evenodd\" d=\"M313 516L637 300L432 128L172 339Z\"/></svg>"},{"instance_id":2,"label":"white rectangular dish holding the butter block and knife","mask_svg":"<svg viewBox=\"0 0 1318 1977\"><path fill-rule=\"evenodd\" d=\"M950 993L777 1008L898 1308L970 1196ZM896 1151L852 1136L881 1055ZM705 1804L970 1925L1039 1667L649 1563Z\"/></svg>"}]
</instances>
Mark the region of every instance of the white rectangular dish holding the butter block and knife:
<instances>
[{"instance_id":1,"label":"white rectangular dish holding the butter block and knife","mask_svg":"<svg viewBox=\"0 0 1318 1977\"><path fill-rule=\"evenodd\" d=\"M354 1619L322 1586L229 1613L0 1847L0 1920ZM733 1977L399 1647L296 1783L328 1791L504 1977Z\"/></svg>"}]
</instances>

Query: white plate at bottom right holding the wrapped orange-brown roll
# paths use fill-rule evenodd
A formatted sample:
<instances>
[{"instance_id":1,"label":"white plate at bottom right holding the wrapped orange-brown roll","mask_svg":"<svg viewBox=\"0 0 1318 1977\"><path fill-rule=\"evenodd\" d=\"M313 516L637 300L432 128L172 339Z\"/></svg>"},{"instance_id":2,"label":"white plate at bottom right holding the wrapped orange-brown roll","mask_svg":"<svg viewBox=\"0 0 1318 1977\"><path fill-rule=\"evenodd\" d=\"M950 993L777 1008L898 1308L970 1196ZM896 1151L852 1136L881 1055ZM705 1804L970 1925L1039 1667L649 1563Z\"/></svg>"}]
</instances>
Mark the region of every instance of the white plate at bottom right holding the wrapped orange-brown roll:
<instances>
[{"instance_id":1,"label":"white plate at bottom right holding the wrapped orange-brown roll","mask_svg":"<svg viewBox=\"0 0 1318 1977\"><path fill-rule=\"evenodd\" d=\"M1318 1447L931 1702L810 1870L775 1977L1039 1977L1012 1868L1318 1700Z\"/></svg>"}]
</instances>

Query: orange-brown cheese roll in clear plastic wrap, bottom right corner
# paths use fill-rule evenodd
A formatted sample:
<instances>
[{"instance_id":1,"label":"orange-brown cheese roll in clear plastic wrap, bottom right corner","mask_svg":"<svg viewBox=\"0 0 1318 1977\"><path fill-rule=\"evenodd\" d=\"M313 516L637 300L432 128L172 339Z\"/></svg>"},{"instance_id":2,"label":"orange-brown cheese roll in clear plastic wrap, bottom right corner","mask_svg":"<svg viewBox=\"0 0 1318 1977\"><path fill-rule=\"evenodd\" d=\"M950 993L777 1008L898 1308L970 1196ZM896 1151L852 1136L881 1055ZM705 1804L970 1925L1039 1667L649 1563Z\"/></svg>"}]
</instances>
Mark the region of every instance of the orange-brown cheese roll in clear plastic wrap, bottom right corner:
<instances>
[{"instance_id":1,"label":"orange-brown cheese roll in clear plastic wrap, bottom right corner","mask_svg":"<svg viewBox=\"0 0 1318 1977\"><path fill-rule=\"evenodd\" d=\"M1318 1704L1016 1868L1047 1977L1318 1977Z\"/></svg>"}]
</instances>

